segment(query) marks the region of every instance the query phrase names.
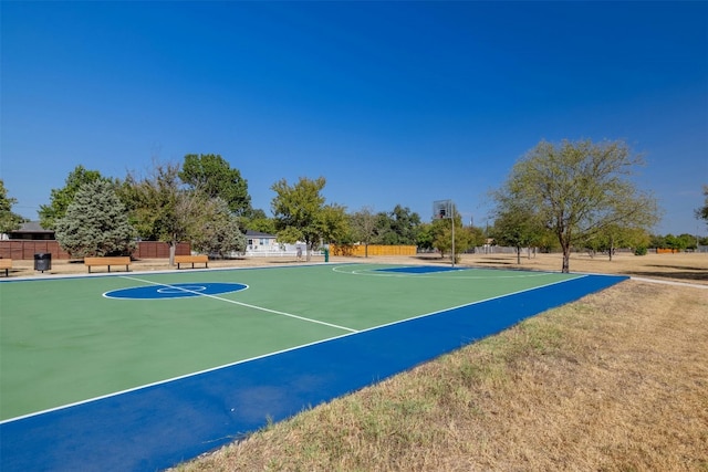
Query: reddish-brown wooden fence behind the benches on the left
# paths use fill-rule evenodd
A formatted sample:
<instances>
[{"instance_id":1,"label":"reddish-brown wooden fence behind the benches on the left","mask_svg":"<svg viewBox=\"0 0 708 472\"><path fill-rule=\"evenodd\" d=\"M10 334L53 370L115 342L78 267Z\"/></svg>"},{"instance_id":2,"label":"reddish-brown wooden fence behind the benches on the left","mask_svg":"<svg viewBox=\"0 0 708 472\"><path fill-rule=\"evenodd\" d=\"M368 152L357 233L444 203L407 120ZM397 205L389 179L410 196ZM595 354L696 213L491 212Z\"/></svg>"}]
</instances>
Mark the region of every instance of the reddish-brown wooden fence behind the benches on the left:
<instances>
[{"instance_id":1,"label":"reddish-brown wooden fence behind the benches on the left","mask_svg":"<svg viewBox=\"0 0 708 472\"><path fill-rule=\"evenodd\" d=\"M50 253L53 260L71 259L70 254L60 248L53 240L4 240L0 241L0 258L20 260L32 260L34 254ZM188 242L177 243L177 255L188 255L191 253L191 245ZM134 259L167 259L169 258L169 244L159 241L139 241L137 248L131 254Z\"/></svg>"}]
</instances>

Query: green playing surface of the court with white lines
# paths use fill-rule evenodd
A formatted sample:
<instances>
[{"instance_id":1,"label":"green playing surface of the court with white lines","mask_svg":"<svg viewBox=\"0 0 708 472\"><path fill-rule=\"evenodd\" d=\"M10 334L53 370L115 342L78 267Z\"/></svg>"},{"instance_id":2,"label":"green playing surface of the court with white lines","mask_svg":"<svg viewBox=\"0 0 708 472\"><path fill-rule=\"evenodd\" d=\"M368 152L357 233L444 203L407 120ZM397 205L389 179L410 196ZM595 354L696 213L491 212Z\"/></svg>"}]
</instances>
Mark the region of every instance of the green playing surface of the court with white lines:
<instances>
[{"instance_id":1,"label":"green playing surface of the court with white lines","mask_svg":"<svg viewBox=\"0 0 708 472\"><path fill-rule=\"evenodd\" d=\"M388 271L394 268L324 264L0 283L0 420L579 276ZM201 292L209 283L248 287L211 295ZM104 296L133 287L194 296Z\"/></svg>"}]
</instances>

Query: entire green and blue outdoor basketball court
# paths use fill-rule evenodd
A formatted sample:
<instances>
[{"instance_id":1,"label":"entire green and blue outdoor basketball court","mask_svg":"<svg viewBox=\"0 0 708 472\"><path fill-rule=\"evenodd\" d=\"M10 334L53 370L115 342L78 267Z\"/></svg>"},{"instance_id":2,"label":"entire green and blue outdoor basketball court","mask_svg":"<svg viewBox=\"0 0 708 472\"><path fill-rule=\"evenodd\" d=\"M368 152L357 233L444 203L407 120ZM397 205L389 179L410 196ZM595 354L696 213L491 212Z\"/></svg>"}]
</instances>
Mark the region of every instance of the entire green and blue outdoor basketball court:
<instances>
[{"instance_id":1,"label":"entire green and blue outdoor basketball court","mask_svg":"<svg viewBox=\"0 0 708 472\"><path fill-rule=\"evenodd\" d=\"M3 280L0 469L165 469L625 279L299 264Z\"/></svg>"}]
</instances>

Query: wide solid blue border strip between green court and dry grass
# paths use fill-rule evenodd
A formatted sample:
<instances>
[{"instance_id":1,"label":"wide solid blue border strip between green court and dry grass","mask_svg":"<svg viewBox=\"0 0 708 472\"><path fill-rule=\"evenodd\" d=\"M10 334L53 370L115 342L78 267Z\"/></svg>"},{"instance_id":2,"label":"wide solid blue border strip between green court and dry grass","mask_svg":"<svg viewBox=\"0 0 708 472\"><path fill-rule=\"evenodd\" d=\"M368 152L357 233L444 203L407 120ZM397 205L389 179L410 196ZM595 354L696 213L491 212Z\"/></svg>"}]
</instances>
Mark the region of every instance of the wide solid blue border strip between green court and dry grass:
<instances>
[{"instance_id":1,"label":"wide solid blue border strip between green court and dry grass","mask_svg":"<svg viewBox=\"0 0 708 472\"><path fill-rule=\"evenodd\" d=\"M585 275L0 423L2 471L155 471L628 277Z\"/></svg>"}]
</instances>

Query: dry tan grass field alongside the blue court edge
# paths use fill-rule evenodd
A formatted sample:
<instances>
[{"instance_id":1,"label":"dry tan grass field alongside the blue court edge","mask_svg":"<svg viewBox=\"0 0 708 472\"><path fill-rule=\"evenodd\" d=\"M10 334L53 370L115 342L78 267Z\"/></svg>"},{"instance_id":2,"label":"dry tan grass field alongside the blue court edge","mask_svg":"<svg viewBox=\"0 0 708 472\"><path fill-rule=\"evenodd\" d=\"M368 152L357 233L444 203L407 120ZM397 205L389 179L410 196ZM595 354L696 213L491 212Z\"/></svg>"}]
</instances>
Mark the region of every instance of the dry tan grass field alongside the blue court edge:
<instances>
[{"instance_id":1,"label":"dry tan grass field alongside the blue court edge","mask_svg":"<svg viewBox=\"0 0 708 472\"><path fill-rule=\"evenodd\" d=\"M708 471L706 339L708 291L627 281L177 470Z\"/></svg>"}]
</instances>

